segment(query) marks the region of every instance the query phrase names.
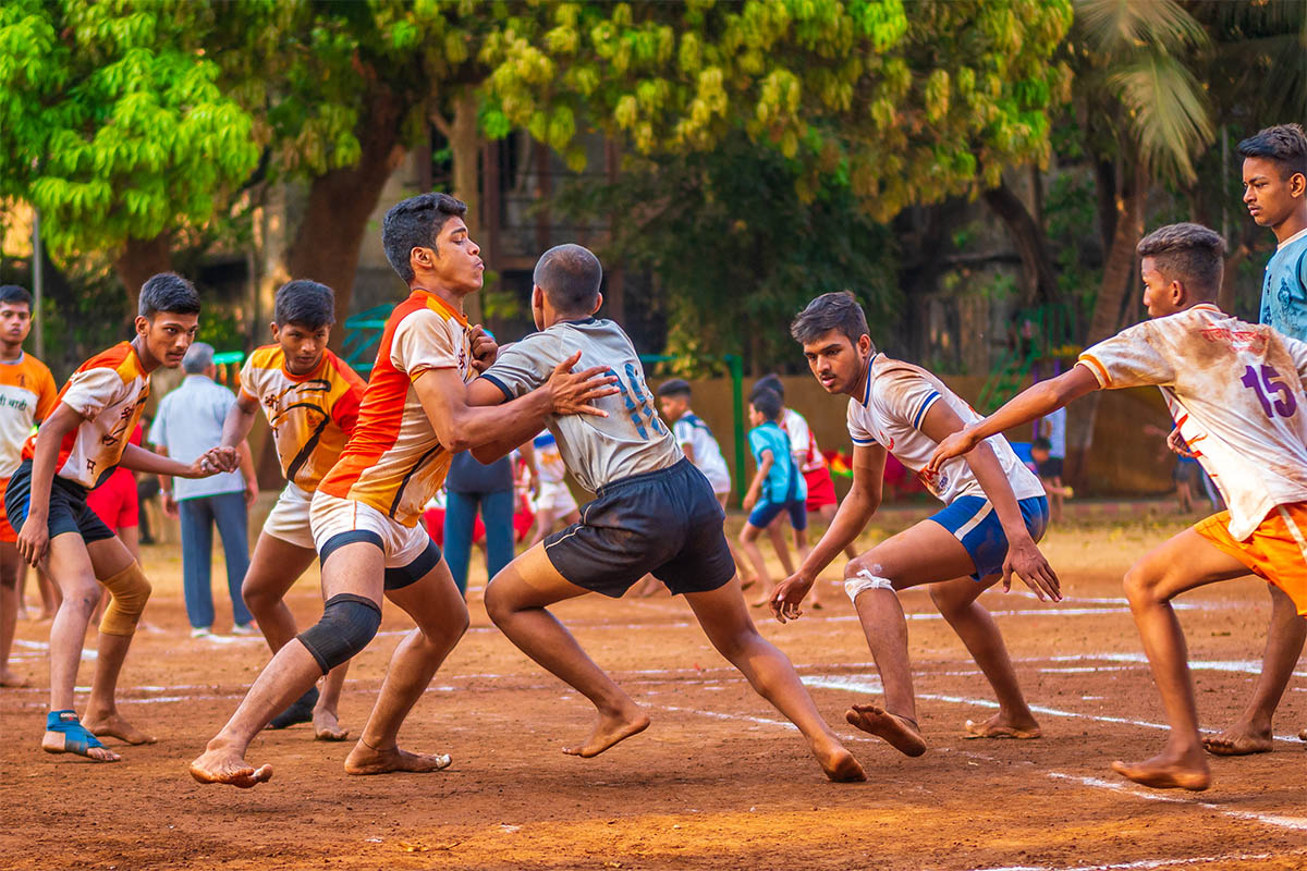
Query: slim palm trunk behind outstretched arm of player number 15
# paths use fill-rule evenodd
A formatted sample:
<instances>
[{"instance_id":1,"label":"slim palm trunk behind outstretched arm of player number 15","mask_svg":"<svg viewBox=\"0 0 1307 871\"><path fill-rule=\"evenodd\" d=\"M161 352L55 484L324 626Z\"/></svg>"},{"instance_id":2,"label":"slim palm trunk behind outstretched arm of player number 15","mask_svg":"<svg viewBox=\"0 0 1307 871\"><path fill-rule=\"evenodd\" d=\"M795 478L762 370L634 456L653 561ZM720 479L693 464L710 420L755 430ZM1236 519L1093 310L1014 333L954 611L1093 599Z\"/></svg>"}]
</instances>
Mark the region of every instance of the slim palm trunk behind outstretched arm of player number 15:
<instances>
[{"instance_id":1,"label":"slim palm trunk behind outstretched arm of player number 15","mask_svg":"<svg viewBox=\"0 0 1307 871\"><path fill-rule=\"evenodd\" d=\"M1103 283L1094 302L1086 346L1114 336L1120 326L1123 304L1136 283L1134 245L1144 235L1148 192L1148 172L1142 165L1136 166L1129 188L1116 200L1112 244L1103 265ZM1103 226L1106 223L1103 221ZM1078 487L1086 484L1086 454L1094 444L1094 424L1098 422L1102 396L1102 392L1097 390L1090 393L1074 404L1068 415L1067 479Z\"/></svg>"}]
</instances>

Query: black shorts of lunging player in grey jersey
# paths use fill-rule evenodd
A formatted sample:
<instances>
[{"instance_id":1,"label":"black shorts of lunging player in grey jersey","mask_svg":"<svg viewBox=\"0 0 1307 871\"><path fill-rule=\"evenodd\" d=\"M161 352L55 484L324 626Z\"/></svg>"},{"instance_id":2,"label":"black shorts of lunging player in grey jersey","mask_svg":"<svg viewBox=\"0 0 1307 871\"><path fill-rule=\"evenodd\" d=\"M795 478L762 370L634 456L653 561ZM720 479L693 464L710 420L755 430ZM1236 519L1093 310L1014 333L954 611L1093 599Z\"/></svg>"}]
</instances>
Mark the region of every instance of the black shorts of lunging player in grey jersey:
<instances>
[{"instance_id":1,"label":"black shorts of lunging player in grey jersey","mask_svg":"<svg viewBox=\"0 0 1307 871\"><path fill-rule=\"evenodd\" d=\"M646 572L673 594L707 593L735 577L712 484L689 460L600 488L580 522L545 539L558 573L587 590L621 597Z\"/></svg>"}]
</instances>

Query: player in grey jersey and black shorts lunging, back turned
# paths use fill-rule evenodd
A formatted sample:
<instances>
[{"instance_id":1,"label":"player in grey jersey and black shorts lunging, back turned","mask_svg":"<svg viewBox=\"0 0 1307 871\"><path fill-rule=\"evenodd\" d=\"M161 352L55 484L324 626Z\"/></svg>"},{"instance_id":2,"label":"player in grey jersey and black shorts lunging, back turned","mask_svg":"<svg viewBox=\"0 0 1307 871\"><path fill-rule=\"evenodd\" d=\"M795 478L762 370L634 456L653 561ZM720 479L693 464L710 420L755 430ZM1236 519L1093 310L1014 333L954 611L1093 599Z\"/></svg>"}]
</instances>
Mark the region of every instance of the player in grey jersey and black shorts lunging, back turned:
<instances>
[{"instance_id":1,"label":"player in grey jersey and black shorts lunging, back turned","mask_svg":"<svg viewBox=\"0 0 1307 871\"><path fill-rule=\"evenodd\" d=\"M559 418L546 426L578 482L597 498L582 520L521 554L486 588L486 611L527 656L599 709L583 742L563 748L596 756L644 731L650 718L576 644L548 607L586 593L621 597L646 572L684 593L714 646L808 739L826 776L864 780L861 765L821 718L786 656L763 640L740 594L725 518L712 486L677 447L630 338L595 317L603 268L580 245L550 248L536 264L531 309L540 332L506 347L469 387L477 405L520 402L580 350L582 364L606 366L621 396L596 401L604 418ZM507 406L501 406L507 407ZM518 443L499 437L473 451L488 462Z\"/></svg>"}]
</instances>

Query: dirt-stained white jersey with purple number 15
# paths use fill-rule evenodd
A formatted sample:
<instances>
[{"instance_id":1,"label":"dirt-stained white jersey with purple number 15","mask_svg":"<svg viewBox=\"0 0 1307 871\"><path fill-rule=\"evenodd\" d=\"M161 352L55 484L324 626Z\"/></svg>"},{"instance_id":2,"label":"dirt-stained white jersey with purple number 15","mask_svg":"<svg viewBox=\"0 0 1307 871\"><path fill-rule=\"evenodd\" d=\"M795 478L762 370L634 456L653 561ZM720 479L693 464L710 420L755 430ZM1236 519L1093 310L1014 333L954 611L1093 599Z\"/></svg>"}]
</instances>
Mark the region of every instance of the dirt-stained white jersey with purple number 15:
<instances>
[{"instance_id":1,"label":"dirt-stained white jersey with purple number 15","mask_svg":"<svg viewBox=\"0 0 1307 871\"><path fill-rule=\"evenodd\" d=\"M1104 388L1162 389L1235 539L1276 505L1307 500L1307 343L1204 303L1121 330L1077 366Z\"/></svg>"}]
</instances>

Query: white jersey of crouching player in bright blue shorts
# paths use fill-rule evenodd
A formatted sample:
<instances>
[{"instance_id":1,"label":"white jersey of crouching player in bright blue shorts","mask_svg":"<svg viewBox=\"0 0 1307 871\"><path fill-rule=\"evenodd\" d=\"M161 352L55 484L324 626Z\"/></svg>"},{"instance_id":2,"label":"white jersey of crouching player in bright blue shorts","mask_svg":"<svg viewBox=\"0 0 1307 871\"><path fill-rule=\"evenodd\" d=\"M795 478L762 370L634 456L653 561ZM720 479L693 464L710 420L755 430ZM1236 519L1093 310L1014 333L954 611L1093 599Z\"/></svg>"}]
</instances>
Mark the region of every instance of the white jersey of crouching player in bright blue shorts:
<instances>
[{"instance_id":1,"label":"white jersey of crouching player in bright blue shorts","mask_svg":"<svg viewBox=\"0 0 1307 871\"><path fill-rule=\"evenodd\" d=\"M988 499L965 457L949 460L936 474L925 471L925 464L931 461L938 443L919 427L925 413L940 401L953 409L963 423L983 419L944 381L921 367L877 354L868 363L863 396L848 401L848 435L855 445L882 445L915 471L927 490L945 505L958 496ZM1017 458L1006 439L996 435L985 439L985 444L999 457L999 465L1008 475L1017 499L1044 495L1039 478Z\"/></svg>"}]
</instances>

